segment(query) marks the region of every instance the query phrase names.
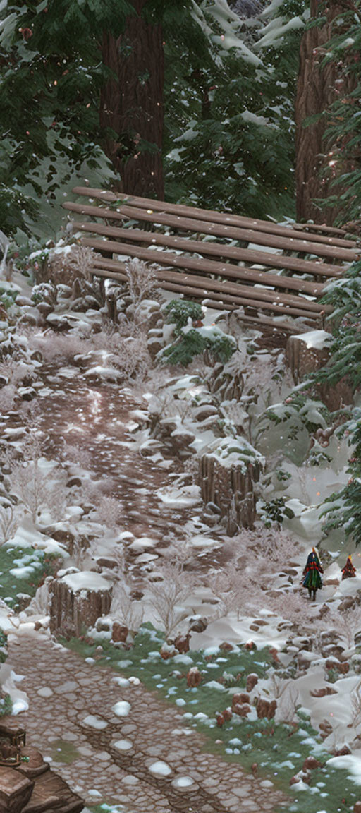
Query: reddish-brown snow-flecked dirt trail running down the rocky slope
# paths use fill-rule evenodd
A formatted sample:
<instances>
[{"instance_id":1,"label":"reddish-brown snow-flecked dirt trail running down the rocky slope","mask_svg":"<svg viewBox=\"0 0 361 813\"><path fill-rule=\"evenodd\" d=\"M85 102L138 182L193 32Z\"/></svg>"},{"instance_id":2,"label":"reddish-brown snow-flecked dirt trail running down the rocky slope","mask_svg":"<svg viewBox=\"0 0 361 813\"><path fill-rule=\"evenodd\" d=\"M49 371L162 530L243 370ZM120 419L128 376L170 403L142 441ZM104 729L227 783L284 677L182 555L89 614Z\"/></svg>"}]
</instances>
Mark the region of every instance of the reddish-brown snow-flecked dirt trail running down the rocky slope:
<instances>
[{"instance_id":1,"label":"reddish-brown snow-flecked dirt trail running down the rocky slope","mask_svg":"<svg viewBox=\"0 0 361 813\"><path fill-rule=\"evenodd\" d=\"M151 448L140 453L132 429L139 425L133 412L141 409L141 403L107 381L88 384L76 367L50 368L41 372L41 380L43 398L37 401L35 421L46 437L46 454L63 459L64 444L67 449L74 446L74 463L81 467L86 458L85 467L98 485L99 497L107 494L123 506L124 530L134 537L152 537L159 546L167 545L168 537L179 533L194 510L176 506L174 501L167 504L167 498L164 502L159 496L159 490L172 487L182 467L176 457L154 462ZM15 413L0 420L0 428L7 432L22 424L22 417ZM86 499L85 494L81 498Z\"/></svg>"}]
</instances>

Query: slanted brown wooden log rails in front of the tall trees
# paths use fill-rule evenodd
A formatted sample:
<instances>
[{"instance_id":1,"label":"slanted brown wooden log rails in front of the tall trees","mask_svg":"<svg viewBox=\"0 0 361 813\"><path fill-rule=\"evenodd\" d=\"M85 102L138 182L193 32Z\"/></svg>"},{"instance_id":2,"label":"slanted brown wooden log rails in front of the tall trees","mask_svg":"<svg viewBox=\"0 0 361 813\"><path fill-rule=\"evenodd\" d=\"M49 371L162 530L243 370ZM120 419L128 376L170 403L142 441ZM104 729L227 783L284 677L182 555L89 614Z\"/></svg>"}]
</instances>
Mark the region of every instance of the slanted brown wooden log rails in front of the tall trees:
<instances>
[{"instance_id":1,"label":"slanted brown wooden log rails in front of the tall trees","mask_svg":"<svg viewBox=\"0 0 361 813\"><path fill-rule=\"evenodd\" d=\"M89 199L63 204L83 216L75 228L91 236L82 244L106 255L94 257L94 275L126 280L127 257L156 263L161 287L210 307L323 324L332 311L319 302L325 282L361 255L342 229L288 227L89 187L73 191Z\"/></svg>"}]
</instances>

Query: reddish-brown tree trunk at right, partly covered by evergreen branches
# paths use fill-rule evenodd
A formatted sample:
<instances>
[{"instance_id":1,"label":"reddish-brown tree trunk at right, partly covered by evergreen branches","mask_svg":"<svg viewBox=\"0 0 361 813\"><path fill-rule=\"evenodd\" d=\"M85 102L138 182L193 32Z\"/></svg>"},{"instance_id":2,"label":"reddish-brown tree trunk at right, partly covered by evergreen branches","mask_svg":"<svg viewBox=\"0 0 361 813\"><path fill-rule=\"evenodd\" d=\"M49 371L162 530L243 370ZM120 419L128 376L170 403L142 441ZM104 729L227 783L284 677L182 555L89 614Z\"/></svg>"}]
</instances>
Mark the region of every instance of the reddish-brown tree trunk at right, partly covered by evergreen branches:
<instances>
[{"instance_id":1,"label":"reddish-brown tree trunk at right, partly covered by evergreen branches","mask_svg":"<svg viewBox=\"0 0 361 813\"><path fill-rule=\"evenodd\" d=\"M320 0L311 0L311 16L320 11ZM300 66L296 97L296 211L298 220L314 220L315 223L332 225L339 207L320 208L315 198L326 199L328 195L341 193L340 187L332 186L335 180L333 165L329 164L333 146L324 143L326 116L303 127L308 116L323 113L333 104L340 89L349 93L353 80L342 70L342 65L334 62L321 68L323 54L332 36L332 22L337 15L349 7L348 0L336 0L322 7L327 22L310 28L303 34L300 48ZM325 154L328 150L328 154ZM346 171L346 167L343 167ZM321 171L326 170L322 173Z\"/></svg>"}]
</instances>

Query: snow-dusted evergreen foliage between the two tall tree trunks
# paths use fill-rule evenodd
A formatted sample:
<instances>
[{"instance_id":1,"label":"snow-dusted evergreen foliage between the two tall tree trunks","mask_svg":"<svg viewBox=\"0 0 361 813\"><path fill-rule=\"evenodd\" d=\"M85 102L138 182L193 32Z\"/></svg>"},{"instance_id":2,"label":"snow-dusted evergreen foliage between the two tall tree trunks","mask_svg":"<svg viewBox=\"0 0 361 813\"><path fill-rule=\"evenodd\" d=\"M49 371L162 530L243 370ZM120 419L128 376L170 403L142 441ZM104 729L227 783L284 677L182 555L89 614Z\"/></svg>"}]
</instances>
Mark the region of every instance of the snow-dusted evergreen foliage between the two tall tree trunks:
<instances>
[{"instance_id":1,"label":"snow-dusted evergreen foliage between the two tall tree trunks","mask_svg":"<svg viewBox=\"0 0 361 813\"><path fill-rule=\"evenodd\" d=\"M211 28L207 4L200 5ZM223 20L207 62L198 51L189 54L192 70L185 54L180 60L174 46L166 50L170 199L213 209L221 201L229 211L261 218L293 214L294 95L307 3L277 5L263 12L266 21L271 17L264 28L261 20L251 26ZM287 28L294 19L298 24Z\"/></svg>"}]
</instances>

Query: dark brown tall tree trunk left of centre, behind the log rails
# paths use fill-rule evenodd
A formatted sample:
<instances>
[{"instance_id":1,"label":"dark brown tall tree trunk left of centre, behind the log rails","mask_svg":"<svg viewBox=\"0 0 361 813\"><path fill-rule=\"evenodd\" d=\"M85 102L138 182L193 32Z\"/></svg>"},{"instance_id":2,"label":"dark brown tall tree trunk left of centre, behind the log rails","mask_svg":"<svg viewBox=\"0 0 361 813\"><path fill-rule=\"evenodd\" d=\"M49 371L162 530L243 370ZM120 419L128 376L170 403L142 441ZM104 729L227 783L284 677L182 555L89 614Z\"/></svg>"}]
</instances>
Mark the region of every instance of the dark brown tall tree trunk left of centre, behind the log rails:
<instances>
[{"instance_id":1,"label":"dark brown tall tree trunk left of centre, behind the log rails","mask_svg":"<svg viewBox=\"0 0 361 813\"><path fill-rule=\"evenodd\" d=\"M163 38L146 24L146 0L132 0L123 34L104 33L102 61L115 74L101 94L100 124L111 128L104 150L120 175L119 189L163 200Z\"/></svg>"}]
</instances>

